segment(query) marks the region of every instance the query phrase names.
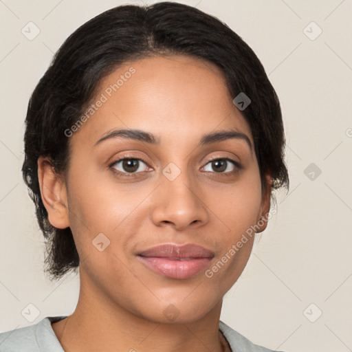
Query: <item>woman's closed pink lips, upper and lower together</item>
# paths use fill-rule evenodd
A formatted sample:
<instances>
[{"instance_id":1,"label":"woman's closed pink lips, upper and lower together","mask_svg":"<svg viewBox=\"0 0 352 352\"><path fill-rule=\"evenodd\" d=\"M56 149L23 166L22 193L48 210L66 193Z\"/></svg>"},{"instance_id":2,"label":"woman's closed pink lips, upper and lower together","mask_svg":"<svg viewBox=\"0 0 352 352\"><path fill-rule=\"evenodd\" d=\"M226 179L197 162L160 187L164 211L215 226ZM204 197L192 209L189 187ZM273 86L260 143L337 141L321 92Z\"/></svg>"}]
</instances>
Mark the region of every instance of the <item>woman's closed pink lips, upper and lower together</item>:
<instances>
[{"instance_id":1,"label":"woman's closed pink lips, upper and lower together","mask_svg":"<svg viewBox=\"0 0 352 352\"><path fill-rule=\"evenodd\" d=\"M149 269L169 278L190 278L208 267L214 252L195 244L164 244L137 255Z\"/></svg>"}]
</instances>

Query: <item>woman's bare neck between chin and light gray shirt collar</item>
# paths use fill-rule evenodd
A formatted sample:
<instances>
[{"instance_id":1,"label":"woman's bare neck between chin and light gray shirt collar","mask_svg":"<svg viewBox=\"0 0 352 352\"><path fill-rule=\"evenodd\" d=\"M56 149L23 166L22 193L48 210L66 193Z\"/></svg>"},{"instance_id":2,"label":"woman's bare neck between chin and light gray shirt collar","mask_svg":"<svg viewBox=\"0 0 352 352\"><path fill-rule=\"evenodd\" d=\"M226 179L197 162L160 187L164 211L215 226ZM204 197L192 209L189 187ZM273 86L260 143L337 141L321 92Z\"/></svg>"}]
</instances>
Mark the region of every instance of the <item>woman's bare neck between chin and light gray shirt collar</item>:
<instances>
[{"instance_id":1,"label":"woman's bare neck between chin and light gray shirt collar","mask_svg":"<svg viewBox=\"0 0 352 352\"><path fill-rule=\"evenodd\" d=\"M222 352L221 306L222 300L195 321L152 321L103 296L81 276L74 313L52 328L65 352Z\"/></svg>"}]
</instances>

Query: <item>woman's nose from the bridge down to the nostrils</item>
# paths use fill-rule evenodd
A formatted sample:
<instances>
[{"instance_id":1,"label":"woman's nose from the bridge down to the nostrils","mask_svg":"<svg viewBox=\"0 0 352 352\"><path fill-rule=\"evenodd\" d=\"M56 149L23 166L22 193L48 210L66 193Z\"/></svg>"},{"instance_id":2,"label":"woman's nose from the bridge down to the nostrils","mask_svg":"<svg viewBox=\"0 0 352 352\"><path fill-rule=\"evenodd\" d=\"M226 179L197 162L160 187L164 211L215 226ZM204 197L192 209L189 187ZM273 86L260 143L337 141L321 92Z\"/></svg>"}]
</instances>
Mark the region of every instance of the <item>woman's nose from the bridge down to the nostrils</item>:
<instances>
[{"instance_id":1,"label":"woman's nose from the bridge down to the nostrils","mask_svg":"<svg viewBox=\"0 0 352 352\"><path fill-rule=\"evenodd\" d=\"M160 177L162 182L153 201L155 224L173 223L181 229L190 223L205 223L208 220L197 180L188 173L186 163L181 166L168 164Z\"/></svg>"}]
</instances>

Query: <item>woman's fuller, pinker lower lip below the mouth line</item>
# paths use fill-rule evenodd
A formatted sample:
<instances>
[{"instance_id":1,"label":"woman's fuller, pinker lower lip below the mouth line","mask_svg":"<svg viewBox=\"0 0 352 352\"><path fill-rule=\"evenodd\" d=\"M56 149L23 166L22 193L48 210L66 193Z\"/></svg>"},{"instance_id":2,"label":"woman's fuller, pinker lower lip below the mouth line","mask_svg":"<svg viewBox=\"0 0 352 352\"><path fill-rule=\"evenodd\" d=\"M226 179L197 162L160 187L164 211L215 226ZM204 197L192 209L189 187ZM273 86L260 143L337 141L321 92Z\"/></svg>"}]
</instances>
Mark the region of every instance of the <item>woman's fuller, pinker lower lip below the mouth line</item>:
<instances>
[{"instance_id":1,"label":"woman's fuller, pinker lower lip below the mouth line","mask_svg":"<svg viewBox=\"0 0 352 352\"><path fill-rule=\"evenodd\" d=\"M153 256L138 256L149 268L168 278L190 278L208 267L211 258L171 261Z\"/></svg>"}]
</instances>

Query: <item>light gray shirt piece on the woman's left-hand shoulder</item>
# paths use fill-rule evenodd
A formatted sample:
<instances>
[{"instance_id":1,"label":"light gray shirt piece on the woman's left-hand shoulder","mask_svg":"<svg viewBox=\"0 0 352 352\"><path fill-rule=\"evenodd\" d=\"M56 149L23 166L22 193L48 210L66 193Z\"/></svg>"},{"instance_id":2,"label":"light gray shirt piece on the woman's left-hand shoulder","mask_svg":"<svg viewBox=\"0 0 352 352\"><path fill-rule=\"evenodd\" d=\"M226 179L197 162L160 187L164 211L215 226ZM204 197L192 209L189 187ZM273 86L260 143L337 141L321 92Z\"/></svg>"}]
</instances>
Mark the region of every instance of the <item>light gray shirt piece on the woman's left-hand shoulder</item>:
<instances>
[{"instance_id":1,"label":"light gray shirt piece on the woman's left-hand shoulder","mask_svg":"<svg viewBox=\"0 0 352 352\"><path fill-rule=\"evenodd\" d=\"M51 322L65 317L46 317L28 327L0 333L0 352L62 352Z\"/></svg>"}]
</instances>

